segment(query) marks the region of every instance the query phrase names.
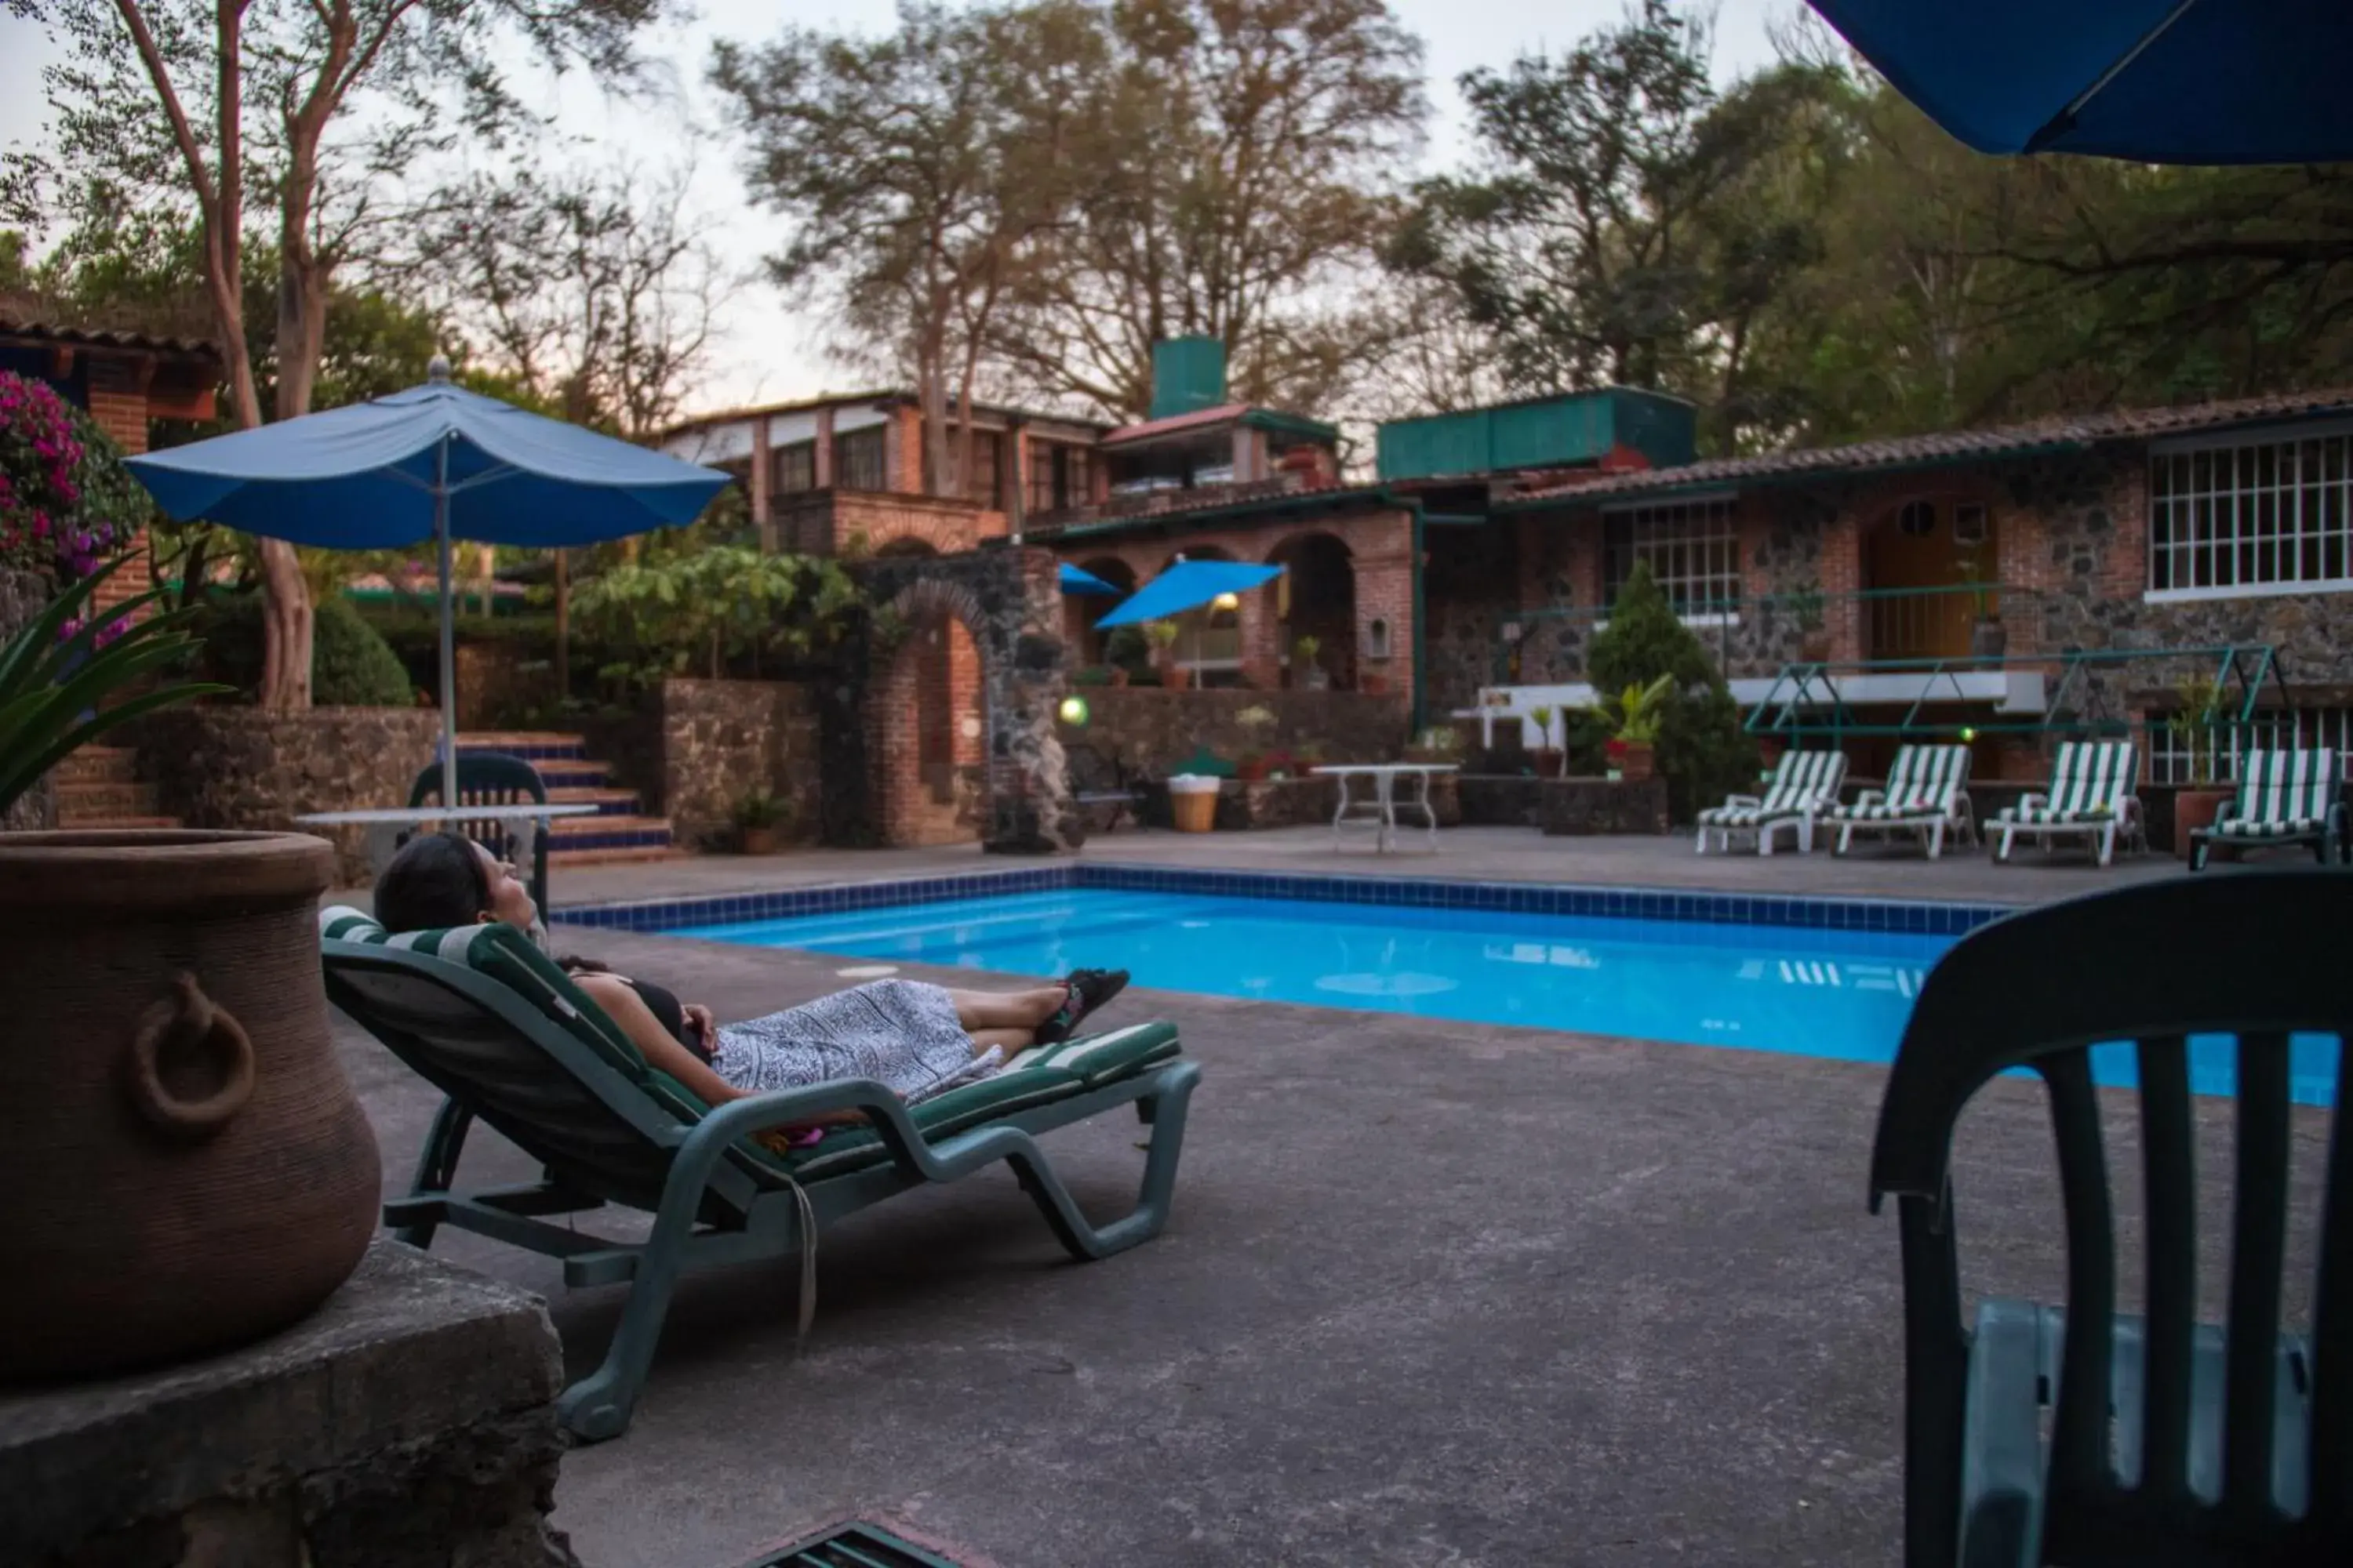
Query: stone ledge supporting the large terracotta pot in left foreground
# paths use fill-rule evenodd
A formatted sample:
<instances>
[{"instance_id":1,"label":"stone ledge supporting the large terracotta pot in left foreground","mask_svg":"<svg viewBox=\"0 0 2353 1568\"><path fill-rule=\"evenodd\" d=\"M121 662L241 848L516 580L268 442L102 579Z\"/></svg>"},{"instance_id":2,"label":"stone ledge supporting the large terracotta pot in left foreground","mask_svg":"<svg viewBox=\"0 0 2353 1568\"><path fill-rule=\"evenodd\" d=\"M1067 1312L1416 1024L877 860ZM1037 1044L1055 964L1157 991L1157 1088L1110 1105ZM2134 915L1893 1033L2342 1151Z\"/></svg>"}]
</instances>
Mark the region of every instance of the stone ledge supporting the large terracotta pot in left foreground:
<instances>
[{"instance_id":1,"label":"stone ledge supporting the large terracotta pot in left foreground","mask_svg":"<svg viewBox=\"0 0 2353 1568\"><path fill-rule=\"evenodd\" d=\"M0 1554L45 1568L579 1568L551 1523L562 1345L511 1286L379 1239L294 1328L0 1394Z\"/></svg>"}]
</instances>

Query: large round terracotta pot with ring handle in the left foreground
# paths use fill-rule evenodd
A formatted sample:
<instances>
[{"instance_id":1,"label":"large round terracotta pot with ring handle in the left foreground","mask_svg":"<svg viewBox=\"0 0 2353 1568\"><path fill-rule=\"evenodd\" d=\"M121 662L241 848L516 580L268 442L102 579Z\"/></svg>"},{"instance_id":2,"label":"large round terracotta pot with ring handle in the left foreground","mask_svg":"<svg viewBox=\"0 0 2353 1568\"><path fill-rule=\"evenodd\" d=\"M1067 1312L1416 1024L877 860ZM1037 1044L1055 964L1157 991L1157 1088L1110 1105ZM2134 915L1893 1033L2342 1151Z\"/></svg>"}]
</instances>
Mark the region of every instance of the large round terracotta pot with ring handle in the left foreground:
<instances>
[{"instance_id":1,"label":"large round terracotta pot with ring handle in the left foreground","mask_svg":"<svg viewBox=\"0 0 2353 1568\"><path fill-rule=\"evenodd\" d=\"M376 1133L318 966L334 851L289 832L0 835L0 1378L245 1345L376 1229Z\"/></svg>"}]
</instances>

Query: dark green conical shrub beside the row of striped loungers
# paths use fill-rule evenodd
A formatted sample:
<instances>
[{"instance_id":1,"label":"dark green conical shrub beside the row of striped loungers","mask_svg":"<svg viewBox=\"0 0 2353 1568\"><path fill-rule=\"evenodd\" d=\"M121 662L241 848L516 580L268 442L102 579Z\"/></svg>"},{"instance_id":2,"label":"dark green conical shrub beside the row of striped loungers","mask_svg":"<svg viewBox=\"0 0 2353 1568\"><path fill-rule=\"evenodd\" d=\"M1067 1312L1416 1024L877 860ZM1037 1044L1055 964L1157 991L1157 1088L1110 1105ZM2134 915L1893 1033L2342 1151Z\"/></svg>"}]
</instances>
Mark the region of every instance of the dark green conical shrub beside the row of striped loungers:
<instances>
[{"instance_id":1,"label":"dark green conical shrub beside the row of striped loungers","mask_svg":"<svg viewBox=\"0 0 2353 1568\"><path fill-rule=\"evenodd\" d=\"M1692 635L1635 564L1586 654L1595 691L1649 691L1657 698L1657 769L1678 823L1755 778L1755 743L1741 733L1741 710L1706 646ZM1628 736L1631 738L1631 736Z\"/></svg>"}]
</instances>

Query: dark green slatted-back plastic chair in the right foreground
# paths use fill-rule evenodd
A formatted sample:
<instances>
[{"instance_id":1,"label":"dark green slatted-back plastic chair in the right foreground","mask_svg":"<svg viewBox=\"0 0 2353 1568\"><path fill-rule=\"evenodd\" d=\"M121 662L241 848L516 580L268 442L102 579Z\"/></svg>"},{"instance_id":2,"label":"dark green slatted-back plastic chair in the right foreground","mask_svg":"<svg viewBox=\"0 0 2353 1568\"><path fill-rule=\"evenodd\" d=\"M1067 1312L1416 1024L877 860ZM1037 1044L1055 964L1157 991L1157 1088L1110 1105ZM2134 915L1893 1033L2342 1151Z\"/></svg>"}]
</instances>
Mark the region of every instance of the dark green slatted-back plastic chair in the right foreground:
<instances>
[{"instance_id":1,"label":"dark green slatted-back plastic chair in the right foreground","mask_svg":"<svg viewBox=\"0 0 2353 1568\"><path fill-rule=\"evenodd\" d=\"M2353 1563L2348 926L2346 877L2167 877L2000 919L1929 973L1871 1152L1871 1206L1894 1194L1904 1237L1908 1568ZM2195 961L2162 961L2184 933ZM2339 1048L2308 1333L2282 1319L2289 1032ZM2228 1037L2235 1065L2228 1328L2195 1321L2191 1034ZM2101 1041L2134 1053L2139 1091L2092 1086ZM2012 1067L2042 1079L2057 1133L2066 1305L1984 1298L1972 1324L1953 1126ZM2125 1234L2141 1239L2146 1316L2115 1312L2101 1121L2127 1105L2139 1126L2118 1157L2139 1166L2125 1180L2144 1218L2127 1213Z\"/></svg>"}]
</instances>

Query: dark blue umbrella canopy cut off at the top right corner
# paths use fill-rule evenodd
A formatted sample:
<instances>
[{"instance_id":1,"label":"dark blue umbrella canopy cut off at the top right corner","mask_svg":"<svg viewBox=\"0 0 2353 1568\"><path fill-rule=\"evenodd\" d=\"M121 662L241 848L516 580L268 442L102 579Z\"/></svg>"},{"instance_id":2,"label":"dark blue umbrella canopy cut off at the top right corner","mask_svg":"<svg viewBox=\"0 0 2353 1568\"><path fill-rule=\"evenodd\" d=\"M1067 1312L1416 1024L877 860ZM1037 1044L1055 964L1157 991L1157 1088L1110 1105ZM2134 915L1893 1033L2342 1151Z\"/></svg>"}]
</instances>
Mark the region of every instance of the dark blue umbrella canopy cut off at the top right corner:
<instances>
[{"instance_id":1,"label":"dark blue umbrella canopy cut off at the top right corner","mask_svg":"<svg viewBox=\"0 0 2353 1568\"><path fill-rule=\"evenodd\" d=\"M1979 153L2353 158L2346 0L1812 0Z\"/></svg>"}]
</instances>

